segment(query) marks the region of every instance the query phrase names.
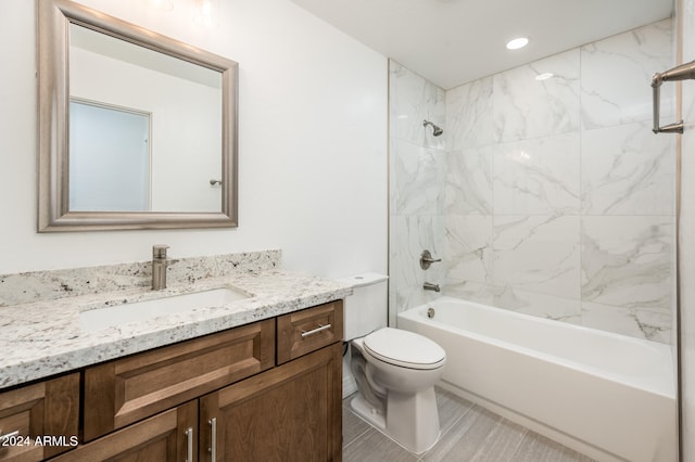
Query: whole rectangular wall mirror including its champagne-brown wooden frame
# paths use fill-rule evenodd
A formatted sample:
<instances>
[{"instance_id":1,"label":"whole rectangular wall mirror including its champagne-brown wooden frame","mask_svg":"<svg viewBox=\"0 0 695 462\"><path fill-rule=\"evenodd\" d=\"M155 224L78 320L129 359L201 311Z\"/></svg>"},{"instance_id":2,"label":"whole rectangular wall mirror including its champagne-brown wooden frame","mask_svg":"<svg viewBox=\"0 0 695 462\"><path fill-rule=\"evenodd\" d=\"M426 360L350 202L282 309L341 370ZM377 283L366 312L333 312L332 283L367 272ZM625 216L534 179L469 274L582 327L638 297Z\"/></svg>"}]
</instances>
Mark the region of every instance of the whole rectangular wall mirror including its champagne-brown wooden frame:
<instances>
[{"instance_id":1,"label":"whole rectangular wall mirror including its champagne-brown wooden frame","mask_svg":"<svg viewBox=\"0 0 695 462\"><path fill-rule=\"evenodd\" d=\"M39 2L39 231L237 226L237 63Z\"/></svg>"}]
</instances>

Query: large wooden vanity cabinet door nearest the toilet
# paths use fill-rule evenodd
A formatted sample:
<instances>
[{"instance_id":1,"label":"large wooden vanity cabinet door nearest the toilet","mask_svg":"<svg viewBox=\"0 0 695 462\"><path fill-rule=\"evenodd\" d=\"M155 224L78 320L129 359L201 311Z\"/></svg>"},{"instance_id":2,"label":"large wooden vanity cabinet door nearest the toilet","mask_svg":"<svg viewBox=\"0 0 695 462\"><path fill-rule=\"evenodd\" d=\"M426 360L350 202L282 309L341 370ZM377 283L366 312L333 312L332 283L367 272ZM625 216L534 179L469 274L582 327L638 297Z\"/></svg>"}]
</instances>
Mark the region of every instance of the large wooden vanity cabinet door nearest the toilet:
<instances>
[{"instance_id":1,"label":"large wooden vanity cabinet door nearest the toilet","mask_svg":"<svg viewBox=\"0 0 695 462\"><path fill-rule=\"evenodd\" d=\"M340 461L341 375L337 343L201 398L200 459Z\"/></svg>"}]
</instances>

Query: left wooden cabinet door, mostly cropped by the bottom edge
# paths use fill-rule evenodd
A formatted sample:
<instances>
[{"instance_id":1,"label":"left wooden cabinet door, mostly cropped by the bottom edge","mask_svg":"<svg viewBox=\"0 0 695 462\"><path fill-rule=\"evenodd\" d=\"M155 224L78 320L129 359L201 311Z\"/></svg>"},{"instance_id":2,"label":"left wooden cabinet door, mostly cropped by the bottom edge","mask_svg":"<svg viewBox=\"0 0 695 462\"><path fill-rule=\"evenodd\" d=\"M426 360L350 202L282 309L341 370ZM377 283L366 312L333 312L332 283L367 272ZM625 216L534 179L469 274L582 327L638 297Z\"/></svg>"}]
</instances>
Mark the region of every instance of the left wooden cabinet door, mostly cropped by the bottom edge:
<instances>
[{"instance_id":1,"label":"left wooden cabinet door, mostly cropped by the bottom edge","mask_svg":"<svg viewBox=\"0 0 695 462\"><path fill-rule=\"evenodd\" d=\"M169 409L53 459L55 462L197 460L198 401Z\"/></svg>"}]
</instances>

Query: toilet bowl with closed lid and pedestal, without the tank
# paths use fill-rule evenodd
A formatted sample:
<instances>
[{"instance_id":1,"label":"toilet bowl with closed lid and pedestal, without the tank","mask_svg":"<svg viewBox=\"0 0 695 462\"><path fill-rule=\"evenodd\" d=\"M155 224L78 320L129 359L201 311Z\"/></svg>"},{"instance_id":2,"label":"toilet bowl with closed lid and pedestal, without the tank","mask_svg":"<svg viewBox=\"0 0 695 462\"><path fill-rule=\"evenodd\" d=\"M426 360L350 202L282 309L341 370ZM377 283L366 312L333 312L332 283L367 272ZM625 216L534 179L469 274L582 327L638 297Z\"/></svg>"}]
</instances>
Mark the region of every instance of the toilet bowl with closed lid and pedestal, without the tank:
<instances>
[{"instance_id":1,"label":"toilet bowl with closed lid and pedestal, without the tank","mask_svg":"<svg viewBox=\"0 0 695 462\"><path fill-rule=\"evenodd\" d=\"M351 345L358 389L351 408L407 450L431 448L440 435L434 383L444 370L444 349L422 335L391 328Z\"/></svg>"}]
</instances>

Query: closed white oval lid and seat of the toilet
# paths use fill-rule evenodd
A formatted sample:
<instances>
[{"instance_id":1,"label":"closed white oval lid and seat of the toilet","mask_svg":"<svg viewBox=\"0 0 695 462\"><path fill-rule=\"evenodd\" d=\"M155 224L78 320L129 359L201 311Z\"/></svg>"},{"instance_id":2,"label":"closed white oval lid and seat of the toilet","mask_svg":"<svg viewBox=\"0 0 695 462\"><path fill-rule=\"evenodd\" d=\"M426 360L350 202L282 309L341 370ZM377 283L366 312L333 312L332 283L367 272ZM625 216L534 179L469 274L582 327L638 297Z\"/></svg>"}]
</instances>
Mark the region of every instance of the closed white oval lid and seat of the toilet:
<instances>
[{"instance_id":1,"label":"closed white oval lid and seat of the toilet","mask_svg":"<svg viewBox=\"0 0 695 462\"><path fill-rule=\"evenodd\" d=\"M446 360L441 346L401 329L380 329L364 337L363 345L375 358L403 368L437 369Z\"/></svg>"}]
</instances>

